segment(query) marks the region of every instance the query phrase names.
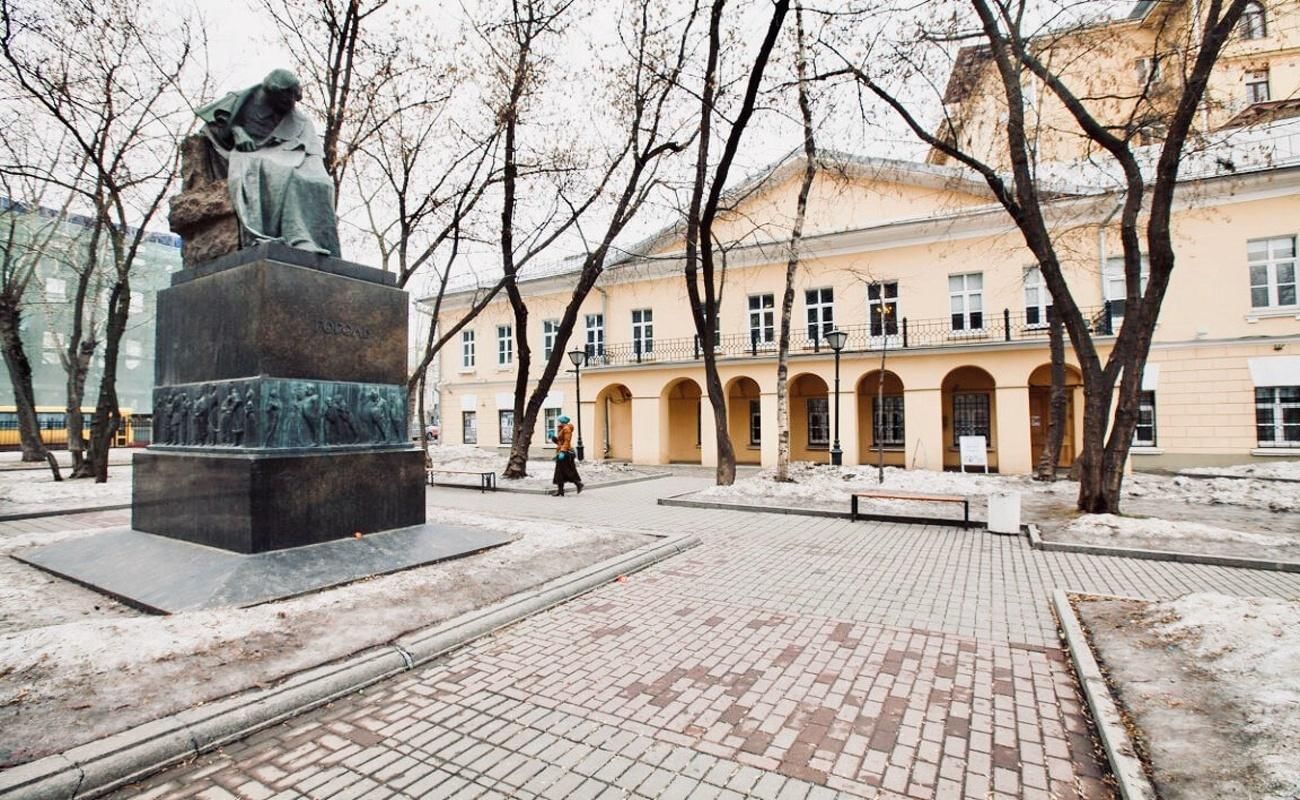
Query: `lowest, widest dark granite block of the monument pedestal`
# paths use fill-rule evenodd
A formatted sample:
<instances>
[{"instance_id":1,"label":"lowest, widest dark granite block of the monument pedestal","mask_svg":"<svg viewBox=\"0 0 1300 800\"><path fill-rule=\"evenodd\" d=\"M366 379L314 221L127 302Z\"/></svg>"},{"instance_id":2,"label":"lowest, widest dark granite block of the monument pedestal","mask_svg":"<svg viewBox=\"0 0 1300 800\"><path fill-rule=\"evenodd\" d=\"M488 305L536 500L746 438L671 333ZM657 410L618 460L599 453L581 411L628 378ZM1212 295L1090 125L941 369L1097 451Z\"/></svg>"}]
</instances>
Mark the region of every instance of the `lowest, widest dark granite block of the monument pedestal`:
<instances>
[{"instance_id":1,"label":"lowest, widest dark granite block of the monument pedestal","mask_svg":"<svg viewBox=\"0 0 1300 800\"><path fill-rule=\"evenodd\" d=\"M131 527L235 553L313 545L424 523L424 454L146 451Z\"/></svg>"}]
</instances>

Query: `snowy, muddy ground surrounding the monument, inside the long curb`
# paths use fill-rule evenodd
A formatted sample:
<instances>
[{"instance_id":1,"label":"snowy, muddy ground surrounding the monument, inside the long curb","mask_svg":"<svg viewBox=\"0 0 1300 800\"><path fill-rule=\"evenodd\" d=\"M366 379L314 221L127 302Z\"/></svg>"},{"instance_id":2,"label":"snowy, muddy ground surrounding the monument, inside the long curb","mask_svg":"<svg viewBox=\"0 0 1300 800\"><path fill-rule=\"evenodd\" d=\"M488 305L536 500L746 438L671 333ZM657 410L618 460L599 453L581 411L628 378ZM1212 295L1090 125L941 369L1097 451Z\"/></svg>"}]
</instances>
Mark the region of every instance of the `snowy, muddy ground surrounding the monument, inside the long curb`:
<instances>
[{"instance_id":1,"label":"snowy, muddy ground surrounding the monument, inside the long curb","mask_svg":"<svg viewBox=\"0 0 1300 800\"><path fill-rule=\"evenodd\" d=\"M8 555L95 531L0 533L0 769L391 641L654 541L429 507L517 539L248 609L150 617Z\"/></svg>"}]
</instances>

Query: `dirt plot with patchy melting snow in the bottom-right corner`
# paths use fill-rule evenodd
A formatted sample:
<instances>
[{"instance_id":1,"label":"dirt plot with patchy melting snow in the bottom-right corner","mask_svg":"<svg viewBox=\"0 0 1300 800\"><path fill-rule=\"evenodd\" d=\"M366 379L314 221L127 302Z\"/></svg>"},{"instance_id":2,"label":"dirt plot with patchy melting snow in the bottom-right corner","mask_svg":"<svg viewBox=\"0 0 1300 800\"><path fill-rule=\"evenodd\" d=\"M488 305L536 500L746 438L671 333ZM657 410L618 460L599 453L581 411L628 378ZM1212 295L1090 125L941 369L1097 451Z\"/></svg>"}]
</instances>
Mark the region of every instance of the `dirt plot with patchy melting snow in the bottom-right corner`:
<instances>
[{"instance_id":1,"label":"dirt plot with patchy melting snow in the bottom-right corner","mask_svg":"<svg viewBox=\"0 0 1300 800\"><path fill-rule=\"evenodd\" d=\"M1300 797L1300 601L1076 604L1164 797Z\"/></svg>"}]
</instances>

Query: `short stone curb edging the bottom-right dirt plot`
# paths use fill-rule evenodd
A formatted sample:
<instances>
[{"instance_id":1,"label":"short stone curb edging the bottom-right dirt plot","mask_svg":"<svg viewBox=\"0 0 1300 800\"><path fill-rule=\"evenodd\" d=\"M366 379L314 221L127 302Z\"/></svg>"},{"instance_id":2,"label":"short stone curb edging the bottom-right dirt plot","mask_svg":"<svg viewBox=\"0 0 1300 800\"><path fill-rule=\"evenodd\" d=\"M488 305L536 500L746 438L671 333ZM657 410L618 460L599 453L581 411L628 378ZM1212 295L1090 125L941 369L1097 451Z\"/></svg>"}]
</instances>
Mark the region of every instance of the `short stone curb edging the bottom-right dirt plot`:
<instances>
[{"instance_id":1,"label":"short stone curb edging the bottom-right dirt plot","mask_svg":"<svg viewBox=\"0 0 1300 800\"><path fill-rule=\"evenodd\" d=\"M1088 645L1083 624L1074 613L1070 594L1062 589L1053 589L1052 610L1061 626L1061 639L1065 640L1066 649L1070 650L1079 687L1083 689L1088 708L1092 709L1092 719L1106 751L1110 771L1119 786L1119 795L1123 800L1157 800L1156 788L1147 778L1147 770L1128 738L1128 728L1124 727L1119 704L1110 693L1110 684L1106 683L1106 676L1101 673L1097 660L1092 654L1092 648Z\"/></svg>"}]
</instances>

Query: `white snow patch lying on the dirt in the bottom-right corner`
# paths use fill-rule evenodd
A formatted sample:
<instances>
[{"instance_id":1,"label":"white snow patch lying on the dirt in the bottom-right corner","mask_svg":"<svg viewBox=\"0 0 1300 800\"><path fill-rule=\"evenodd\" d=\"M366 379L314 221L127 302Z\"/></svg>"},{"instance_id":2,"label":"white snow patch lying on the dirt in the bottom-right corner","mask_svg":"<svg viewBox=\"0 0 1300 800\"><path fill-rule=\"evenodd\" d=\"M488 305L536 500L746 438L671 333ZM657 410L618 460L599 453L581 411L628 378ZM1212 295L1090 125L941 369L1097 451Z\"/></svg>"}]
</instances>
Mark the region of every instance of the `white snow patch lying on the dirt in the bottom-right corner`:
<instances>
[{"instance_id":1,"label":"white snow patch lying on the dirt in the bottom-right corner","mask_svg":"<svg viewBox=\"0 0 1300 800\"><path fill-rule=\"evenodd\" d=\"M1300 797L1300 601L1197 593L1156 604L1149 619L1240 701L1245 747L1268 777L1258 800Z\"/></svg>"}]
</instances>

